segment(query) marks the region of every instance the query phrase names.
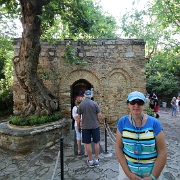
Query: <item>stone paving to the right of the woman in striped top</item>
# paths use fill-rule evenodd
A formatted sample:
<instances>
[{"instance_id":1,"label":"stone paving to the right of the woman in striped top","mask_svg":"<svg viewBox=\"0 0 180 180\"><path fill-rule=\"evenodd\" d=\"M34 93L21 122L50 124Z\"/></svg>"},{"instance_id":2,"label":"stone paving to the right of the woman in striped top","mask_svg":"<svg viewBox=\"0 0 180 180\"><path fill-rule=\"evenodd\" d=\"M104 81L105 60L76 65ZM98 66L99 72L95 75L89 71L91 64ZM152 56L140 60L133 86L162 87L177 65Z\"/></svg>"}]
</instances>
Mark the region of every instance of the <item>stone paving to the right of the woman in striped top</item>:
<instances>
[{"instance_id":1,"label":"stone paving to the right of the woman in striped top","mask_svg":"<svg viewBox=\"0 0 180 180\"><path fill-rule=\"evenodd\" d=\"M168 152L163 180L180 180L180 114L172 116L170 108L161 108L159 115Z\"/></svg>"}]
</instances>

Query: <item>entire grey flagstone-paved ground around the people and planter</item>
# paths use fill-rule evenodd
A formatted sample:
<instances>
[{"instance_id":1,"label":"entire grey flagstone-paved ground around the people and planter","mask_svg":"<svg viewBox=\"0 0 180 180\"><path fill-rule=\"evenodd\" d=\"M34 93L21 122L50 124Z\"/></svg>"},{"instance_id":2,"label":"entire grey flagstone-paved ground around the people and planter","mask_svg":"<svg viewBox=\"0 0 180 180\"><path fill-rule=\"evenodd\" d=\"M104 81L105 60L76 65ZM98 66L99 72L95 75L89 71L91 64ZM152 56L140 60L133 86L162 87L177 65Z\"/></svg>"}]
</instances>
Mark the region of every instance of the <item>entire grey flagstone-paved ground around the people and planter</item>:
<instances>
[{"instance_id":1,"label":"entire grey flagstone-paved ground around the people and planter","mask_svg":"<svg viewBox=\"0 0 180 180\"><path fill-rule=\"evenodd\" d=\"M160 118L168 149L168 160L163 180L180 180L180 115L171 116L170 109L161 108ZM3 122L2 122L3 123ZM88 168L85 156L74 156L74 132L64 137L64 179L113 180L118 179L118 162L113 139L107 139L108 153L100 154L100 166ZM104 148L104 130L101 147ZM40 152L14 154L0 149L0 180L54 180L61 179L60 161L54 173L59 143Z\"/></svg>"}]
</instances>

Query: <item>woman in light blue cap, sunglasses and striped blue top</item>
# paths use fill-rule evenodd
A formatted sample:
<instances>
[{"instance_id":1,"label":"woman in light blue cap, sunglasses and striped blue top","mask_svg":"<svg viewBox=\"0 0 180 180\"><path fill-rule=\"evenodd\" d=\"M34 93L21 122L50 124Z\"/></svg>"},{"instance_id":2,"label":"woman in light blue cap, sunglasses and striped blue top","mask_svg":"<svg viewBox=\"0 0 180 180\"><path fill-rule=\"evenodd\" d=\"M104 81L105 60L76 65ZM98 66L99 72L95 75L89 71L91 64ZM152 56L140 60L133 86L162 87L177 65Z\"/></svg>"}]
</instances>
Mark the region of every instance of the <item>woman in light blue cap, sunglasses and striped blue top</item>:
<instances>
[{"instance_id":1,"label":"woman in light blue cap, sunglasses and striped blue top","mask_svg":"<svg viewBox=\"0 0 180 180\"><path fill-rule=\"evenodd\" d=\"M127 98L130 114L118 121L116 155L119 180L160 180L167 150L160 122L143 113L146 98L134 91Z\"/></svg>"}]
</instances>

